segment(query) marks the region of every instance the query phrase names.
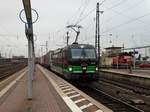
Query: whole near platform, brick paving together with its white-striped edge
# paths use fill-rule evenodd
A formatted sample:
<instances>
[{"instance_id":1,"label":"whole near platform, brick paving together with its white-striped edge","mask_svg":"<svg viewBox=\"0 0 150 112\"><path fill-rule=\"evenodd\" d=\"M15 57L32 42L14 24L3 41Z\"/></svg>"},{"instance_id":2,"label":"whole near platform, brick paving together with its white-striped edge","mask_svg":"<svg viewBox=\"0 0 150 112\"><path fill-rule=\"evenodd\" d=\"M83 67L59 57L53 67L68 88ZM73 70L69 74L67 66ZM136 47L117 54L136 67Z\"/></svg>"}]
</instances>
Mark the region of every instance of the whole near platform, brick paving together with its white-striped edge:
<instances>
[{"instance_id":1,"label":"whole near platform, brick paving together with its white-striped edge","mask_svg":"<svg viewBox=\"0 0 150 112\"><path fill-rule=\"evenodd\" d=\"M112 112L55 74L36 66L33 100L27 100L26 72L0 91L0 112ZM2 96L7 89L9 92ZM3 92L4 91L4 92Z\"/></svg>"}]
</instances>

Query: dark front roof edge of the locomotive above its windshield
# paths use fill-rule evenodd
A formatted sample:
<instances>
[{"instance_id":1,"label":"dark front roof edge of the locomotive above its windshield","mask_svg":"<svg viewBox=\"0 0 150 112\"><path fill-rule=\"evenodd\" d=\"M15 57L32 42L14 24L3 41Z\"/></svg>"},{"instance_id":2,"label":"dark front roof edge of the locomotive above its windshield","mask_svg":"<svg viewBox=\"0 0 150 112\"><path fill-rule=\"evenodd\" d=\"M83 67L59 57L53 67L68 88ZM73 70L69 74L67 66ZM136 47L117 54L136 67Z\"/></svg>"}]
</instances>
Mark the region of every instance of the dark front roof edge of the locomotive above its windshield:
<instances>
[{"instance_id":1,"label":"dark front roof edge of the locomotive above its windshield","mask_svg":"<svg viewBox=\"0 0 150 112\"><path fill-rule=\"evenodd\" d=\"M68 48L76 48L76 49L89 48L89 49L93 49L94 46L93 45L89 45L89 44L71 44L71 45L66 46L64 49L68 49Z\"/></svg>"}]
</instances>

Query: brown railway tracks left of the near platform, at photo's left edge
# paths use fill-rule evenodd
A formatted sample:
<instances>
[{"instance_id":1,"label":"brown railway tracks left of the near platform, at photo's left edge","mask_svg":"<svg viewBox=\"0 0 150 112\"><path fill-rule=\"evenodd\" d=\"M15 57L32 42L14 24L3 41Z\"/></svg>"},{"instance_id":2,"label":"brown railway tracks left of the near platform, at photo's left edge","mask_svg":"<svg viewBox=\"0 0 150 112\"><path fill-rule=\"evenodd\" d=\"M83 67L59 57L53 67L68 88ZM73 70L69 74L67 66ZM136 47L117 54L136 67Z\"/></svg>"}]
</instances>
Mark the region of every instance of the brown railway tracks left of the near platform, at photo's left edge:
<instances>
[{"instance_id":1,"label":"brown railway tracks left of the near platform, at photo's left edge","mask_svg":"<svg viewBox=\"0 0 150 112\"><path fill-rule=\"evenodd\" d=\"M12 75L13 73L24 68L26 64L8 64L0 66L0 80Z\"/></svg>"}]
</instances>

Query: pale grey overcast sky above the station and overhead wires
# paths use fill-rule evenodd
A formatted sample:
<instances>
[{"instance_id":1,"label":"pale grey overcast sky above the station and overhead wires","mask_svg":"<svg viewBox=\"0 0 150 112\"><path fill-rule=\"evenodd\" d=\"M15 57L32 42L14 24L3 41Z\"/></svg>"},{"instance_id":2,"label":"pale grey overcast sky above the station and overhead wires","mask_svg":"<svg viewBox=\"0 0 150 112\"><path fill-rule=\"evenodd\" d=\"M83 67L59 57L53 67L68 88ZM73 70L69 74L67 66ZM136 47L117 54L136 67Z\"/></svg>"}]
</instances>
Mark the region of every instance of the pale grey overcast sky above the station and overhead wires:
<instances>
[{"instance_id":1,"label":"pale grey overcast sky above the station and overhead wires","mask_svg":"<svg viewBox=\"0 0 150 112\"><path fill-rule=\"evenodd\" d=\"M102 1L99 0L100 3ZM39 20L34 24L36 54L40 54L41 45L45 45L46 41L49 50L65 46L65 27L76 22L83 26L79 43L94 44L97 2L98 0L31 0L32 8L39 13ZM24 24L18 16L22 8L22 0L0 1L0 51L3 55L27 56ZM112 44L122 46L123 43L125 47L150 45L150 0L105 0L100 10L104 11L100 15L102 48ZM75 33L72 30L69 32L72 43Z\"/></svg>"}]
</instances>

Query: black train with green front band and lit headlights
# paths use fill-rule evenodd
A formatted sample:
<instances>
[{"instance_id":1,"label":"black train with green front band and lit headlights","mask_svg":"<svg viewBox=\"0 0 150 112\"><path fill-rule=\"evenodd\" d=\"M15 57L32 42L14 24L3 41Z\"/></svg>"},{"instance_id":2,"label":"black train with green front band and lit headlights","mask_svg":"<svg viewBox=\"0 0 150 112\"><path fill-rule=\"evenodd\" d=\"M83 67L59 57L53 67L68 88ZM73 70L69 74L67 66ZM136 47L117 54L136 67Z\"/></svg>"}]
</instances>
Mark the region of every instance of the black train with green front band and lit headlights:
<instances>
[{"instance_id":1,"label":"black train with green front band and lit headlights","mask_svg":"<svg viewBox=\"0 0 150 112\"><path fill-rule=\"evenodd\" d=\"M40 64L69 80L98 80L98 59L95 48L72 44L41 57Z\"/></svg>"}]
</instances>

